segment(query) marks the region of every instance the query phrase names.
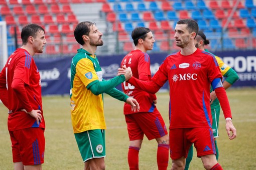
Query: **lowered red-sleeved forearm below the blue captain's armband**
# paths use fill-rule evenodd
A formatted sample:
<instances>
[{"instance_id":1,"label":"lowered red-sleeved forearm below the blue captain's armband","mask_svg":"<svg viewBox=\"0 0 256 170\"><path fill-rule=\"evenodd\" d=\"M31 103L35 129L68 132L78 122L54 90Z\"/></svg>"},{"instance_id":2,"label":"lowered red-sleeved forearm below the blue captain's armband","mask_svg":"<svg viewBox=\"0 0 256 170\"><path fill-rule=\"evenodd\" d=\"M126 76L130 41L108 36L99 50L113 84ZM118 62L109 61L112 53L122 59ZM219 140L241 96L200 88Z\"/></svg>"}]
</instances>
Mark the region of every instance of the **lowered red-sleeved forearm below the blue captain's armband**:
<instances>
[{"instance_id":1,"label":"lowered red-sleeved forearm below the blue captain's armband","mask_svg":"<svg viewBox=\"0 0 256 170\"><path fill-rule=\"evenodd\" d=\"M215 88L214 90L215 90L216 96L219 99L219 103L220 103L221 109L223 110L224 117L232 118L231 109L230 109L230 105L228 102L225 89L223 87L218 87L218 88Z\"/></svg>"}]
</instances>

